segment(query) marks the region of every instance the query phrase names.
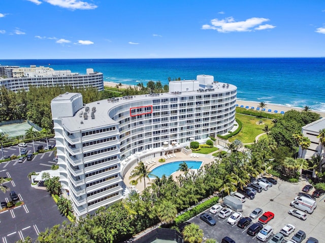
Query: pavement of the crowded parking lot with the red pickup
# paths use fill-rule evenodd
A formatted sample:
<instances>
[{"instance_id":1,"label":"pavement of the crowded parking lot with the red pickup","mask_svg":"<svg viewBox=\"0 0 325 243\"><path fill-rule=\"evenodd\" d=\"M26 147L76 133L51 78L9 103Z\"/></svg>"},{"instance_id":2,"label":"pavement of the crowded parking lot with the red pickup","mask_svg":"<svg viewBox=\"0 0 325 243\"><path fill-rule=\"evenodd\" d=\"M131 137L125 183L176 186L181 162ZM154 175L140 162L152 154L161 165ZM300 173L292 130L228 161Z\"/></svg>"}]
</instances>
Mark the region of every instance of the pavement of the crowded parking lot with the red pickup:
<instances>
[{"instance_id":1,"label":"pavement of the crowded parking lot with the red pickup","mask_svg":"<svg viewBox=\"0 0 325 243\"><path fill-rule=\"evenodd\" d=\"M324 196L317 198L317 208L313 214L307 214L305 221L300 220L294 216L288 214L290 209L290 202L297 196L298 192L304 185L308 184L305 180L299 183L293 184L278 180L277 185L273 185L268 191L262 191L256 193L255 199L250 200L246 198L246 202L243 203L243 217L249 217L249 214L255 208L263 209L263 212L271 211L274 213L274 219L272 219L268 225L273 227L273 233L271 237L278 233L285 224L293 224L296 227L294 233L289 237L285 237L284 242L290 239L298 230L303 230L307 234L307 237L315 237L319 242L325 242L323 228L325 226L325 203ZM209 210L205 213L210 214ZM200 228L204 231L205 238L213 238L221 242L224 236L229 236L236 241L236 243L249 243L249 242L262 242L246 233L249 226L244 229L239 228L236 224L230 225L227 223L227 219L222 219L217 215L213 215L213 218L217 221L215 226L210 226L207 223L200 220L200 215L189 220L191 223L200 225ZM256 223L258 220L253 219L252 223ZM271 237L268 238L271 239ZM306 240L304 240L305 242Z\"/></svg>"}]
</instances>

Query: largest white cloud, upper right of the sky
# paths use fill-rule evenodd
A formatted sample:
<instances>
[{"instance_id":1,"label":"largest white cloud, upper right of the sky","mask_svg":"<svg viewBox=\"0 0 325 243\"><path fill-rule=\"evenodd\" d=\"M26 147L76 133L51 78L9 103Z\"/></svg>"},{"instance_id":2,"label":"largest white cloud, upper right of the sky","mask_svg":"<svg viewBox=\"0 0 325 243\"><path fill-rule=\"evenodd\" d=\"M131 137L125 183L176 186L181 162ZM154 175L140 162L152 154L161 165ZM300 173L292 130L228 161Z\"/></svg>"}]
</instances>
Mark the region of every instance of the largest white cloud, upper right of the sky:
<instances>
[{"instance_id":1,"label":"largest white cloud, upper right of the sky","mask_svg":"<svg viewBox=\"0 0 325 243\"><path fill-rule=\"evenodd\" d=\"M269 21L269 19L250 18L250 19L246 19L245 21L236 22L233 17L228 17L221 20L212 19L211 25L204 24L202 26L202 29L214 29L217 30L218 32L225 33L225 32L245 32L245 31L252 31L253 29L262 30L262 29L269 29L275 27L273 25L260 25L266 21Z\"/></svg>"}]
</instances>

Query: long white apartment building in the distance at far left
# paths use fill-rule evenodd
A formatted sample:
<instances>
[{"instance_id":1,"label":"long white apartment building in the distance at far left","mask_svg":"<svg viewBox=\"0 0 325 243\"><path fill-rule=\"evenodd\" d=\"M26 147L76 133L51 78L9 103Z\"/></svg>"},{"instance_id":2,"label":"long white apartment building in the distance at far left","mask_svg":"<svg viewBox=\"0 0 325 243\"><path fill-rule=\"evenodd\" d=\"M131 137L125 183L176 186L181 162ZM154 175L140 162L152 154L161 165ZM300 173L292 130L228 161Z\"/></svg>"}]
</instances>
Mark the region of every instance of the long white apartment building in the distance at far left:
<instances>
[{"instance_id":1,"label":"long white apartment building in the distance at far left","mask_svg":"<svg viewBox=\"0 0 325 243\"><path fill-rule=\"evenodd\" d=\"M50 67L30 65L30 67L1 66L0 86L17 92L29 90L29 85L35 87L72 86L74 88L94 87L104 90L103 73L87 68L86 74L71 72L71 70L54 70Z\"/></svg>"}]
</instances>

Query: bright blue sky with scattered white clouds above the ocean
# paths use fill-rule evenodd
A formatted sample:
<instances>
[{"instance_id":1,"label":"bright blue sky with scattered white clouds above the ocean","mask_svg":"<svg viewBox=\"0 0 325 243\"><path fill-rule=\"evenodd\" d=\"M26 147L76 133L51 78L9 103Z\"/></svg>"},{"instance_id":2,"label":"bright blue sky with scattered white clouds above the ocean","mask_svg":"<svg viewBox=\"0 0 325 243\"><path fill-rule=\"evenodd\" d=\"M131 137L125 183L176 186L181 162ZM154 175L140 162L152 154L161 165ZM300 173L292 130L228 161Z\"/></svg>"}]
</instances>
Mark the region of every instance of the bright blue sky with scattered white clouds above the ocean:
<instances>
[{"instance_id":1,"label":"bright blue sky with scattered white clouds above the ocean","mask_svg":"<svg viewBox=\"0 0 325 243\"><path fill-rule=\"evenodd\" d=\"M320 0L1 0L1 59L325 57Z\"/></svg>"}]
</instances>

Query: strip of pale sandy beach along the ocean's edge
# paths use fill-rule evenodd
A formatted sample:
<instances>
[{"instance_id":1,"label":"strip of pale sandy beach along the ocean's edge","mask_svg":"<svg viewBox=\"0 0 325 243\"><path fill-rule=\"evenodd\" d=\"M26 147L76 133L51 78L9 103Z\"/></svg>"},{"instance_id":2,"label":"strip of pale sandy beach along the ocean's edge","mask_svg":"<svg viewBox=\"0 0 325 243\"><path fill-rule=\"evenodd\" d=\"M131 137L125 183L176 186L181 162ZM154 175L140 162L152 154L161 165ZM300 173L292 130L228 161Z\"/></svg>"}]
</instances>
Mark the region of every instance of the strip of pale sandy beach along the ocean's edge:
<instances>
[{"instance_id":1,"label":"strip of pale sandy beach along the ocean's edge","mask_svg":"<svg viewBox=\"0 0 325 243\"><path fill-rule=\"evenodd\" d=\"M114 88L116 88L116 85L118 85L118 83L104 81L104 86L106 86L106 87L114 87ZM128 87L136 88L137 86L135 86L135 85L122 85L121 89L127 89ZM254 107L254 110L256 110L259 102L236 100L236 104L238 104L238 107L243 105L244 108L246 106L248 106L249 107L248 109L250 109L251 107ZM293 107L293 106L287 106L287 105L278 105L278 104L270 104L270 103L266 103L265 108L266 108L266 111L264 111L264 112L268 112L268 110L271 109L272 112L269 112L269 113L274 113L273 111L277 110L278 114L280 114L281 111L286 112L288 110L298 110L298 111L303 110L303 108L299 108L299 107ZM320 114L321 117L325 117L325 111L320 111L320 110L311 110L311 111Z\"/></svg>"}]
</instances>

